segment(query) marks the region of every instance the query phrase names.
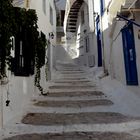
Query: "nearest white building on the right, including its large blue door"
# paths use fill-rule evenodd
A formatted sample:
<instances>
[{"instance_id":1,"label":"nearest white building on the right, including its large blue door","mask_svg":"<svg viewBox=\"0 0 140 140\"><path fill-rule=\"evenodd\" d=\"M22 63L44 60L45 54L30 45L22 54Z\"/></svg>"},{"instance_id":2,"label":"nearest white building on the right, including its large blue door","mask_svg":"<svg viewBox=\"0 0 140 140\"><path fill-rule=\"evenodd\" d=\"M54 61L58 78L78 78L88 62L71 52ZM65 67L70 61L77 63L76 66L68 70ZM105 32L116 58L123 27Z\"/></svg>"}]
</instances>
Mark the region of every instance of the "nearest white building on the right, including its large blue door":
<instances>
[{"instance_id":1,"label":"nearest white building on the right, including its large blue door","mask_svg":"<svg viewBox=\"0 0 140 140\"><path fill-rule=\"evenodd\" d=\"M140 1L101 0L100 5L100 11L95 12L101 15L104 68L112 78L139 93Z\"/></svg>"}]
</instances>

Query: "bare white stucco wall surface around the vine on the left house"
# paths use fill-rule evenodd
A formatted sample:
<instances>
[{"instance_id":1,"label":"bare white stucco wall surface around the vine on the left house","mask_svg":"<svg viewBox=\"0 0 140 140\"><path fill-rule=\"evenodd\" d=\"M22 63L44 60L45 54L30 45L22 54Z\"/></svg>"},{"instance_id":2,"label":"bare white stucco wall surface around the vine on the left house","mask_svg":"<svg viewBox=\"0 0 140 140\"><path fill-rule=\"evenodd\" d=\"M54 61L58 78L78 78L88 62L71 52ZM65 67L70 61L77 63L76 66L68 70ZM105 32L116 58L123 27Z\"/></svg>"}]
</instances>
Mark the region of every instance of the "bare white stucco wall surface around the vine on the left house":
<instances>
[{"instance_id":1,"label":"bare white stucco wall surface around the vine on the left house","mask_svg":"<svg viewBox=\"0 0 140 140\"><path fill-rule=\"evenodd\" d=\"M55 45L56 43L56 10L53 0L46 0L46 15L42 9L42 0L31 0L30 8L37 11L38 28L49 39L49 33L53 32L54 39L50 42ZM53 10L53 25L50 23L50 6ZM50 52L51 54L52 52ZM53 57L50 59L53 64ZM52 67L51 67L52 68ZM13 118L23 113L24 108L29 104L33 96L39 93L38 89L34 87L34 76L30 77L15 77L8 74L8 84L0 85L0 128L2 125L7 124ZM45 69L41 69L41 85L46 87ZM9 93L7 98L7 92ZM10 100L9 107L6 107L6 100Z\"/></svg>"}]
</instances>

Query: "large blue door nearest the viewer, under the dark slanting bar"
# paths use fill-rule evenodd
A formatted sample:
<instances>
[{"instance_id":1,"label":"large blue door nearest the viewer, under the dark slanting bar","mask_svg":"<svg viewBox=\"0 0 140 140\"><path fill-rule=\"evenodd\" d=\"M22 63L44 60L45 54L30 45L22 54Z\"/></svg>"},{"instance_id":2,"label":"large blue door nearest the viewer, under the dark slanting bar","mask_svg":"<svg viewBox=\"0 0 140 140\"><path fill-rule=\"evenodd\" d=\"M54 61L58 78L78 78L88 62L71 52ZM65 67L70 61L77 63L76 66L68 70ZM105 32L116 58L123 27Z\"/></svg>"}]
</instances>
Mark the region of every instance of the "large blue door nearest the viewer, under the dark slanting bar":
<instances>
[{"instance_id":1,"label":"large blue door nearest the viewer, under the dark slanting bar","mask_svg":"<svg viewBox=\"0 0 140 140\"><path fill-rule=\"evenodd\" d=\"M122 29L122 39L123 39L126 83L127 85L138 85L136 52L132 23L128 23Z\"/></svg>"}]
</instances>

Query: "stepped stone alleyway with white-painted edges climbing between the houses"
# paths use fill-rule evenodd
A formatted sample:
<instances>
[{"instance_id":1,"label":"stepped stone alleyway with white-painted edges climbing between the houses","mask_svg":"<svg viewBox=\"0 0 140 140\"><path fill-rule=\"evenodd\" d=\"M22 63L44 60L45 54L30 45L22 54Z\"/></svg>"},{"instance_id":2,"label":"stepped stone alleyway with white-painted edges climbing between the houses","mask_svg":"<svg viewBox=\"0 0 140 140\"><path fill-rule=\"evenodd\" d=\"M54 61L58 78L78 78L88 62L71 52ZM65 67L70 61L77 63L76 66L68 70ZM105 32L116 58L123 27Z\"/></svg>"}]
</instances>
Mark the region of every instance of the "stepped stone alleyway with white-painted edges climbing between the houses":
<instances>
[{"instance_id":1,"label":"stepped stone alleyway with white-painted edges climbing between the houses","mask_svg":"<svg viewBox=\"0 0 140 140\"><path fill-rule=\"evenodd\" d=\"M140 130L140 118L112 111L113 101L76 65L58 63L56 68L49 94L34 98L21 122L4 130L3 139L140 140L133 134Z\"/></svg>"}]
</instances>

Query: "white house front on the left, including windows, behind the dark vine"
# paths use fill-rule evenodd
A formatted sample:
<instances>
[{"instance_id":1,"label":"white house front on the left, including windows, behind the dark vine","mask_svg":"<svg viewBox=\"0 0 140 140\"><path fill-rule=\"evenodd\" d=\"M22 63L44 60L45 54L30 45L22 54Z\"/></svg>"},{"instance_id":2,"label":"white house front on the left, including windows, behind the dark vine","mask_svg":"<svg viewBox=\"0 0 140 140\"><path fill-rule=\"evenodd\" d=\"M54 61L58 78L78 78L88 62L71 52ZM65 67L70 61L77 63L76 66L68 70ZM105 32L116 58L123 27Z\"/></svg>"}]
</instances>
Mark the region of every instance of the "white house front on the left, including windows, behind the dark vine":
<instances>
[{"instance_id":1,"label":"white house front on the left, including windows, behind the dark vine","mask_svg":"<svg viewBox=\"0 0 140 140\"><path fill-rule=\"evenodd\" d=\"M53 63L53 47L56 44L56 6L53 0L14 0L14 7L36 10L38 31L50 42L47 53L49 58L49 76ZM52 37L53 35L53 37ZM46 88L45 66L41 68L40 84ZM0 128L11 119L23 113L33 96L40 94L34 86L35 75L15 76L7 71L7 78L0 81ZM7 105L7 101L9 102Z\"/></svg>"}]
</instances>

